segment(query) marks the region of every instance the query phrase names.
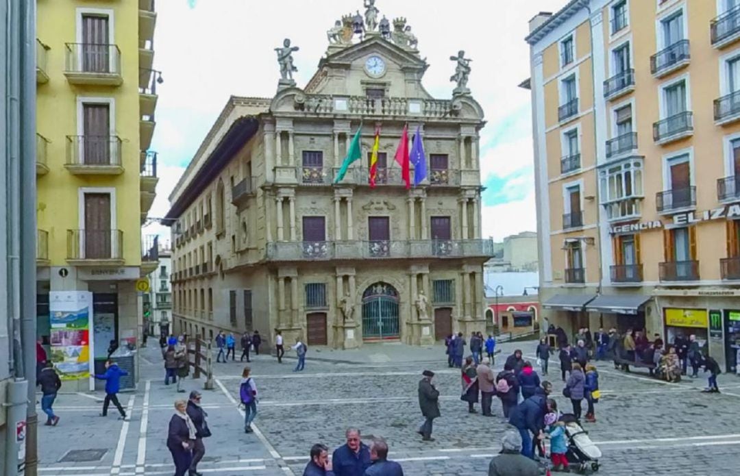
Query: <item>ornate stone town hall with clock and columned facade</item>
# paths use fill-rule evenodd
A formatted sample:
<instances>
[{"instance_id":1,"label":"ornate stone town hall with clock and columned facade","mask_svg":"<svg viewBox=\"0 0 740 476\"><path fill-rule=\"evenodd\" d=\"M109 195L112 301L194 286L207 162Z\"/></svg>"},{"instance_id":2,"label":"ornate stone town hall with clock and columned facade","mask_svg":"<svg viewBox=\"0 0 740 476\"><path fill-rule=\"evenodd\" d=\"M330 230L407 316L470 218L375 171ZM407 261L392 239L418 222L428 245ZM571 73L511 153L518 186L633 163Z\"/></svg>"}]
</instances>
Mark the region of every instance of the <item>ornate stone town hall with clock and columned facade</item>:
<instances>
[{"instance_id":1,"label":"ornate stone town hall with clock and columned facade","mask_svg":"<svg viewBox=\"0 0 740 476\"><path fill-rule=\"evenodd\" d=\"M170 196L175 331L350 348L485 330L482 109L431 98L415 38L337 32L305 88L232 97ZM408 189L393 158L406 125L428 169ZM362 158L334 183L360 126Z\"/></svg>"}]
</instances>

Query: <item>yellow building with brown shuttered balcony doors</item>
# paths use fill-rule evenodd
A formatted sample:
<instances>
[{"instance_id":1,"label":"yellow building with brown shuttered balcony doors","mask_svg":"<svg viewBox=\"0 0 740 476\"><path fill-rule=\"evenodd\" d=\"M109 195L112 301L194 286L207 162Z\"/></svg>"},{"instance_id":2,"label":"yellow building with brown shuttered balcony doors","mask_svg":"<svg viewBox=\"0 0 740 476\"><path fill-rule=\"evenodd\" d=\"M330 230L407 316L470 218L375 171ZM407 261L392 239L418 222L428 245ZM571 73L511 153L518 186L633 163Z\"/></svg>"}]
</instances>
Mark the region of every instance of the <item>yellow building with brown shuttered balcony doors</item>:
<instances>
[{"instance_id":1,"label":"yellow building with brown shuttered balcony doors","mask_svg":"<svg viewBox=\"0 0 740 476\"><path fill-rule=\"evenodd\" d=\"M38 2L38 333L50 335L50 291L91 291L96 358L139 335L135 281L156 266L141 243L157 183L154 7Z\"/></svg>"}]
</instances>

